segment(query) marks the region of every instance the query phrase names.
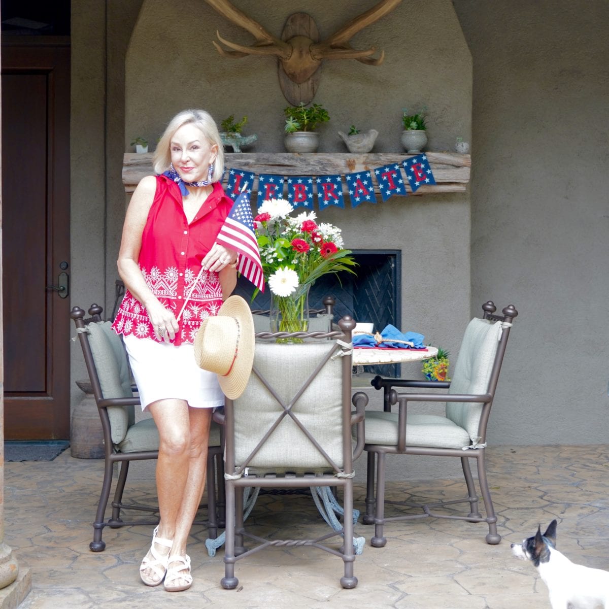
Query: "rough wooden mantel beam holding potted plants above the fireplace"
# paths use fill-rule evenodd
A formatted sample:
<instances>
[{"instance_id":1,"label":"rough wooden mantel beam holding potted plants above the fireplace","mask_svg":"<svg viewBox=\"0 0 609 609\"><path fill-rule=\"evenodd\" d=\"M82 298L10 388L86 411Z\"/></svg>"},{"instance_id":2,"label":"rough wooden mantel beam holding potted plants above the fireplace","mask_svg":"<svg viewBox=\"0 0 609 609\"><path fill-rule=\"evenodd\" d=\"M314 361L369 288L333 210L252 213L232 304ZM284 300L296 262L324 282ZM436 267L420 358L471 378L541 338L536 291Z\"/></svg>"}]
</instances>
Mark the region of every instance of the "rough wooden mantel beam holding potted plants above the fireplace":
<instances>
[{"instance_id":1,"label":"rough wooden mantel beam holding potted plants above the fireplace","mask_svg":"<svg viewBox=\"0 0 609 609\"><path fill-rule=\"evenodd\" d=\"M467 183L470 181L470 155L450 152L425 152L425 155L434 174L435 186L421 186L415 193L409 190L409 195L465 192ZM256 175L344 175L356 171L373 171L378 167L390 163L401 164L409 156L413 155L406 153L357 155L340 152L309 154L292 152L228 152L224 156L224 161L230 169L244 169ZM401 171L403 172L404 169L401 169ZM141 178L152 174L154 174L154 170L152 169L151 152L146 154L125 152L122 165L122 183L125 186L125 192L133 192ZM257 189L258 177L256 177L254 182L254 191ZM343 191L347 194L347 186L344 184ZM376 185L375 192L379 192Z\"/></svg>"}]
</instances>

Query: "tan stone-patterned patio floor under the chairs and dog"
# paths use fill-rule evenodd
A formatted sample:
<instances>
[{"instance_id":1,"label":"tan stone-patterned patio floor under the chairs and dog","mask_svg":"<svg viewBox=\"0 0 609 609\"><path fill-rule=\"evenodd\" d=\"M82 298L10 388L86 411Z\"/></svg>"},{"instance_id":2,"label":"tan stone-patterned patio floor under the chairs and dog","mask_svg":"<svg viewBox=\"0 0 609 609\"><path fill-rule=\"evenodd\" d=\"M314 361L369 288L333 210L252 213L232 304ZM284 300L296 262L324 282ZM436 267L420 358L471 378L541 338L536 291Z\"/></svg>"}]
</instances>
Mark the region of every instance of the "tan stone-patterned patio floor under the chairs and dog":
<instances>
[{"instance_id":1,"label":"tan stone-patterned patio floor under the chairs and dog","mask_svg":"<svg viewBox=\"0 0 609 609\"><path fill-rule=\"evenodd\" d=\"M105 552L89 551L101 461L74 459L68 450L52 462L5 463L4 538L32 576L32 590L19 607L539 609L549 607L546 588L532 566L512 557L510 542L552 518L558 519L562 552L609 569L609 445L502 446L489 452L501 544L485 543L485 524L424 518L389 523L387 546L377 549L370 546L373 527L358 524L356 533L367 545L355 563L354 590L340 587L342 561L312 547L258 552L237 564L238 589L223 590L223 552L208 556L202 527L193 527L189 546L192 588L174 594L148 588L138 566L150 543L149 527L106 529ZM154 499L153 479L135 467L128 488L129 498ZM422 498L463 495L457 479L392 482L388 496L401 490ZM357 485L360 509L364 494ZM303 495L261 496L250 518L262 535L293 529L287 535L297 536L307 529L312 537L309 530L325 527Z\"/></svg>"}]
</instances>

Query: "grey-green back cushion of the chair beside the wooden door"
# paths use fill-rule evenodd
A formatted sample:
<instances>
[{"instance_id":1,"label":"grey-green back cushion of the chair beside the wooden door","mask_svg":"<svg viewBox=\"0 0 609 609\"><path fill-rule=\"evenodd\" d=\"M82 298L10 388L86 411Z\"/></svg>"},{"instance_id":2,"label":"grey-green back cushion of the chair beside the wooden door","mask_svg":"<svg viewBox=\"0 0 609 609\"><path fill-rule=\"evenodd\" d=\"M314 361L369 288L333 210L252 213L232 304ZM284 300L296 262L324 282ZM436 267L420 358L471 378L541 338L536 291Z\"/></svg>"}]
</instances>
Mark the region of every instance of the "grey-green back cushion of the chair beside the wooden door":
<instances>
[{"instance_id":1,"label":"grey-green back cushion of the chair beside the wooden door","mask_svg":"<svg viewBox=\"0 0 609 609\"><path fill-rule=\"evenodd\" d=\"M97 378L105 400L132 398L131 375L121 337L111 322L91 322L86 326ZM135 420L133 406L108 406L112 443L121 443Z\"/></svg>"}]
</instances>

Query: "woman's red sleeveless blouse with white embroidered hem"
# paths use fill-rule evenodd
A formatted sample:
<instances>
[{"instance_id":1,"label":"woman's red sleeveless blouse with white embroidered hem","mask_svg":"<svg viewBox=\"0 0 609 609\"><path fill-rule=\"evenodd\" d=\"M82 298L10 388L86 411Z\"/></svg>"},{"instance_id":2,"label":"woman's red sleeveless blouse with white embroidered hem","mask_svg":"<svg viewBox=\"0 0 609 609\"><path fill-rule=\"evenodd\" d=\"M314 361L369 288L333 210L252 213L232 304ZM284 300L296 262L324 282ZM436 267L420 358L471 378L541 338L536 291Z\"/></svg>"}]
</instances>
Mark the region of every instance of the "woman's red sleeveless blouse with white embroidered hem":
<instances>
[{"instance_id":1,"label":"woman's red sleeveless blouse with white embroidered hem","mask_svg":"<svg viewBox=\"0 0 609 609\"><path fill-rule=\"evenodd\" d=\"M157 176L157 191L142 233L139 269L147 286L161 305L178 317L174 345L194 342L201 322L217 315L222 305L222 288L217 273L203 271L201 260L209 252L233 202L222 185L214 189L188 224L178 185L164 175ZM112 328L117 334L133 335L161 342L153 331L146 308L129 292L119 307Z\"/></svg>"}]
</instances>

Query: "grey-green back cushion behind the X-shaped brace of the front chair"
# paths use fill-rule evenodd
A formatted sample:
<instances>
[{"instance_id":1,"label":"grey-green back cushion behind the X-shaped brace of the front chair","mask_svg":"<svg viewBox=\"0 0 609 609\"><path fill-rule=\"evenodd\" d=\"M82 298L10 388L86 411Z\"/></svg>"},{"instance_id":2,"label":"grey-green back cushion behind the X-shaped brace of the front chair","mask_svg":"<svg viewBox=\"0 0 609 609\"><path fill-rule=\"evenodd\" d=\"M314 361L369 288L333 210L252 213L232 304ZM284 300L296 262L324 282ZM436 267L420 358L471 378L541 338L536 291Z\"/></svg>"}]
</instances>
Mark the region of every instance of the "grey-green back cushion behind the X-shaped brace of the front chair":
<instances>
[{"instance_id":1,"label":"grey-green back cushion behind the X-shaped brace of the front chair","mask_svg":"<svg viewBox=\"0 0 609 609\"><path fill-rule=\"evenodd\" d=\"M286 345L256 341L254 367L289 404L336 341L319 340ZM329 359L298 398L292 412L328 456L342 467L342 364ZM243 395L234 401L235 463L245 460L280 417L283 407L254 372ZM351 447L349 447L351 448ZM328 471L328 460L315 448L289 415L267 438L247 466L264 471Z\"/></svg>"}]
</instances>

